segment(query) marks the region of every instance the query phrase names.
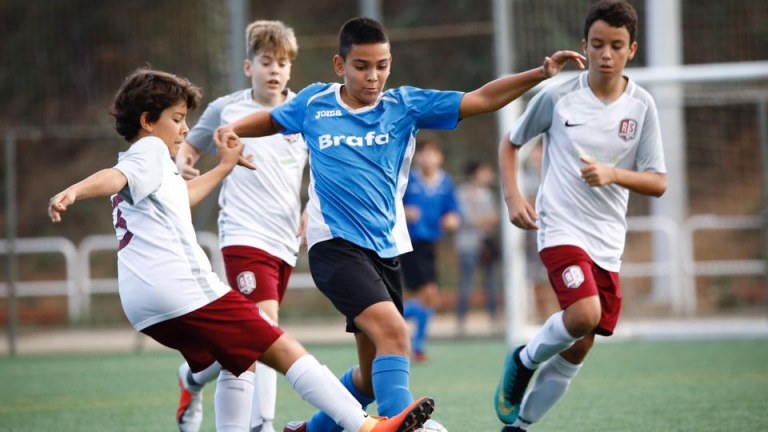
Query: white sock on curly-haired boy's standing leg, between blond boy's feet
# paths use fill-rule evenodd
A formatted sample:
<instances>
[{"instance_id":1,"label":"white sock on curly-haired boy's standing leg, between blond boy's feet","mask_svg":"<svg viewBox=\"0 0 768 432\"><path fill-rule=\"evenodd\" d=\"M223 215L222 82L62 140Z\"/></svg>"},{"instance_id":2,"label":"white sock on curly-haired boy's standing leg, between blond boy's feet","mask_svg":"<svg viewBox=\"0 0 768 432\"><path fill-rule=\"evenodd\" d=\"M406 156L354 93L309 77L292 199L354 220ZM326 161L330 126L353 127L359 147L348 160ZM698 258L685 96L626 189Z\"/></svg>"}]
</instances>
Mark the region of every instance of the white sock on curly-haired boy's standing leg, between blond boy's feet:
<instances>
[{"instance_id":1,"label":"white sock on curly-haired boy's standing leg, between blond boy's feet","mask_svg":"<svg viewBox=\"0 0 768 432\"><path fill-rule=\"evenodd\" d=\"M253 372L239 377L226 370L219 374L214 396L216 432L250 432Z\"/></svg>"}]
</instances>

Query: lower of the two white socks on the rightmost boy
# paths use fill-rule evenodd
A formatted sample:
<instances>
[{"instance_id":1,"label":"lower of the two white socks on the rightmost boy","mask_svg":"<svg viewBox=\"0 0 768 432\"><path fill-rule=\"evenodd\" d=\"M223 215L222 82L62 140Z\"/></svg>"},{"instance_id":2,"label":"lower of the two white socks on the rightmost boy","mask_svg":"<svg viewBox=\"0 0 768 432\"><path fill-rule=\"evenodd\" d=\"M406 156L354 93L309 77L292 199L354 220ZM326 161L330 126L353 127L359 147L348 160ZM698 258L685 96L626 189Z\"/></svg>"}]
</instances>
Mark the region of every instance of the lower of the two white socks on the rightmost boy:
<instances>
[{"instance_id":1,"label":"lower of the two white socks on the rightmost boy","mask_svg":"<svg viewBox=\"0 0 768 432\"><path fill-rule=\"evenodd\" d=\"M523 399L518 421L522 420L521 423L527 423L527 425L541 421L544 414L563 397L571 380L579 373L579 369L581 365L570 363L559 355L544 363L536 376L533 388ZM527 429L527 425L525 427L518 425L518 427Z\"/></svg>"}]
</instances>

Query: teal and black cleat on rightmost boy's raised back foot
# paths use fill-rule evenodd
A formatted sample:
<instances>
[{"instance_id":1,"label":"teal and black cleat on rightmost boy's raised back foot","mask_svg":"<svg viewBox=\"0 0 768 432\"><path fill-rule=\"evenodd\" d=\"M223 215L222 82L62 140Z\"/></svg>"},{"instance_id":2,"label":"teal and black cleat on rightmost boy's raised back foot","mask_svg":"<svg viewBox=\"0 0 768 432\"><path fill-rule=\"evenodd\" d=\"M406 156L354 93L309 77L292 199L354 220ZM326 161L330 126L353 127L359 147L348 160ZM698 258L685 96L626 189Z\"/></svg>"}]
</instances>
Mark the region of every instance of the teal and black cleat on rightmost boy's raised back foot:
<instances>
[{"instance_id":1,"label":"teal and black cleat on rightmost boy's raised back foot","mask_svg":"<svg viewBox=\"0 0 768 432\"><path fill-rule=\"evenodd\" d=\"M504 372L501 374L499 385L493 402L496 407L496 415L505 424L512 424L520 414L520 404L525 396L525 389L533 376L533 370L528 369L520 362L520 351L524 345L512 348L504 360Z\"/></svg>"}]
</instances>

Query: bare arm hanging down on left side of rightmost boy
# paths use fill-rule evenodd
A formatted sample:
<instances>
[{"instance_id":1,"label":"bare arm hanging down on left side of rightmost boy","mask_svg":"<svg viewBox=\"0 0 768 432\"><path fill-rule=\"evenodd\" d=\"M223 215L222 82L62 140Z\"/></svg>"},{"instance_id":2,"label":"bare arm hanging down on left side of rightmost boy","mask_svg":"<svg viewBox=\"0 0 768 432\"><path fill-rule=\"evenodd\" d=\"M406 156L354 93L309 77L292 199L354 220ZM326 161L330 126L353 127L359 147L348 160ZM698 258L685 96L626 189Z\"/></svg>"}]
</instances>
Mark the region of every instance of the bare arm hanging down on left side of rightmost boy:
<instances>
[{"instance_id":1,"label":"bare arm hanging down on left side of rightmost boy","mask_svg":"<svg viewBox=\"0 0 768 432\"><path fill-rule=\"evenodd\" d=\"M501 187L504 189L504 201L509 210L509 221L520 229L539 229L536 220L539 215L520 193L517 186L517 159L520 147L509 141L509 134L504 135L499 143L499 172Z\"/></svg>"}]
</instances>

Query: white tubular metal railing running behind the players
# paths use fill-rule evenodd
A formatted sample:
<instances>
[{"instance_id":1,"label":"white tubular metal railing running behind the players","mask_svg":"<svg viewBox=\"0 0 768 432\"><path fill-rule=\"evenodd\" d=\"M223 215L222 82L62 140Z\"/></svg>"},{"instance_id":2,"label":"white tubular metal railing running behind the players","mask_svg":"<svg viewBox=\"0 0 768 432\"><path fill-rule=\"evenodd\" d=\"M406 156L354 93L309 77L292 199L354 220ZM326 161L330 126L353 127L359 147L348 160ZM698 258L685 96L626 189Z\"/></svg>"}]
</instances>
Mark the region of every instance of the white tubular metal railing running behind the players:
<instances>
[{"instance_id":1,"label":"white tubular metal railing running behind the players","mask_svg":"<svg viewBox=\"0 0 768 432\"><path fill-rule=\"evenodd\" d=\"M762 221L755 216L696 215L682 227L667 217L641 216L627 218L629 232L655 232L667 241L670 254L683 256L682 268L672 261L627 262L622 265L622 278L667 276L670 280L672 311L678 315L693 315L697 309L696 276L762 275L765 262L761 259L696 261L694 238L703 230L756 230ZM224 260L218 248L218 237L206 231L197 233L198 242L207 249L213 270L226 281ZM92 294L117 293L117 279L91 278L91 255L97 251L116 251L114 235L92 235L80 242L79 247L64 237L21 238L15 242L15 253L60 254L64 257L65 278L62 280L17 281L19 297L67 296L71 321L87 316ZM0 240L0 255L9 252L7 240ZM314 288L309 273L295 273L289 289ZM8 296L8 284L0 283L0 298Z\"/></svg>"}]
</instances>

